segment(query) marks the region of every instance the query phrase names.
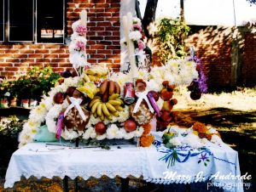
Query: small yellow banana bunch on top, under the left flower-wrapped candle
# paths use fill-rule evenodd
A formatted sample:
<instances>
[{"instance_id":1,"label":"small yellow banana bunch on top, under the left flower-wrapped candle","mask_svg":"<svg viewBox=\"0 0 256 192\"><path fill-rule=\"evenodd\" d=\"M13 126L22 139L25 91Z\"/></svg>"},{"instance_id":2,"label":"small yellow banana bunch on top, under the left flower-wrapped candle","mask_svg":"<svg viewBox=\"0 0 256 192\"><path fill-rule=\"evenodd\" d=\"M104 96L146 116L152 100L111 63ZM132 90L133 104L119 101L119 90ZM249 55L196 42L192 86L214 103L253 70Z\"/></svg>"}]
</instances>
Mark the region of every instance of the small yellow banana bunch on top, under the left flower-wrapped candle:
<instances>
[{"instance_id":1,"label":"small yellow banana bunch on top, under the left flower-wrapped candle","mask_svg":"<svg viewBox=\"0 0 256 192\"><path fill-rule=\"evenodd\" d=\"M101 66L92 66L84 72L85 82L100 82L102 79L107 79L108 69Z\"/></svg>"}]
</instances>

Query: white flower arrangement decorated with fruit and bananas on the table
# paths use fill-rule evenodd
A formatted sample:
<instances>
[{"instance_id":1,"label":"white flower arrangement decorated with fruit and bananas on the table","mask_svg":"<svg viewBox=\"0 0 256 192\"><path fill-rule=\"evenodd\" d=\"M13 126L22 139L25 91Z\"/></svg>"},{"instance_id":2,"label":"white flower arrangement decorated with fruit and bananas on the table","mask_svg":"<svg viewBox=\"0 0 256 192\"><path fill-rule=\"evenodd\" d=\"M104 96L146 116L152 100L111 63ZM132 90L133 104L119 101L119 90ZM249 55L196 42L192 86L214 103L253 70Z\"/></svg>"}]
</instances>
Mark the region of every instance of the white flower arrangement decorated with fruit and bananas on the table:
<instances>
[{"instance_id":1,"label":"white flower arrangement decorated with fruit and bananas on the table","mask_svg":"<svg viewBox=\"0 0 256 192\"><path fill-rule=\"evenodd\" d=\"M129 41L134 42L137 53L143 53L145 44L140 20L132 19L131 28ZM79 76L65 78L44 95L20 133L20 146L32 142L40 125L45 124L56 138L140 138L141 146L148 147L154 140L149 123L155 114L160 115L159 109L165 105L160 99L165 89L163 84L170 84L168 88L173 84L189 84L198 76L195 62L188 60L170 60L150 72L137 71L136 65L131 65L130 73L118 72L110 76L107 69L87 63L86 31L82 19L73 23L69 45L73 67L84 67L84 70ZM166 101L174 102L171 98Z\"/></svg>"}]
</instances>

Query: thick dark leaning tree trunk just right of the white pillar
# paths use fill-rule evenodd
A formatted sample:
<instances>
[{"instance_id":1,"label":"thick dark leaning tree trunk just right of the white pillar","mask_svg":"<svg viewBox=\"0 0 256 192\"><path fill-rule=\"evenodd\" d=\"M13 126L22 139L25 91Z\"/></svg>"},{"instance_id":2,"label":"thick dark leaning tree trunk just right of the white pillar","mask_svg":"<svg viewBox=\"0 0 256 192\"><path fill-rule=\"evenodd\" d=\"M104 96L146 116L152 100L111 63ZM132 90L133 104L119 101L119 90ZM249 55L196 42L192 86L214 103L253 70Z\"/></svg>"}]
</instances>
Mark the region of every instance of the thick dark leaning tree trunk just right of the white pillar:
<instances>
[{"instance_id":1,"label":"thick dark leaning tree trunk just right of the white pillar","mask_svg":"<svg viewBox=\"0 0 256 192\"><path fill-rule=\"evenodd\" d=\"M145 36L148 38L150 38L148 25L154 22L157 3L158 0L148 0L145 8L145 14L143 16L143 29L145 31Z\"/></svg>"}]
</instances>

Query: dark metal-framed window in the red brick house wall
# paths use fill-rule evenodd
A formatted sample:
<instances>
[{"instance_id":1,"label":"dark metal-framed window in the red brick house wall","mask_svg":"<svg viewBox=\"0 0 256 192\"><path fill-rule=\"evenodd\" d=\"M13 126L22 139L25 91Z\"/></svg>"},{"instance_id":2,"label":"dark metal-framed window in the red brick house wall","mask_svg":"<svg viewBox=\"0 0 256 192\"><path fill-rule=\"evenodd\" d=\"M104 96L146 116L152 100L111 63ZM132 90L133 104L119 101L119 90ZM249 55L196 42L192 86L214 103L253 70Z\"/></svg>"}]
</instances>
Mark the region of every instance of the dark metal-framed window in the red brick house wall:
<instances>
[{"instance_id":1,"label":"dark metal-framed window in the red brick house wall","mask_svg":"<svg viewBox=\"0 0 256 192\"><path fill-rule=\"evenodd\" d=\"M65 0L0 1L0 42L64 42Z\"/></svg>"}]
</instances>

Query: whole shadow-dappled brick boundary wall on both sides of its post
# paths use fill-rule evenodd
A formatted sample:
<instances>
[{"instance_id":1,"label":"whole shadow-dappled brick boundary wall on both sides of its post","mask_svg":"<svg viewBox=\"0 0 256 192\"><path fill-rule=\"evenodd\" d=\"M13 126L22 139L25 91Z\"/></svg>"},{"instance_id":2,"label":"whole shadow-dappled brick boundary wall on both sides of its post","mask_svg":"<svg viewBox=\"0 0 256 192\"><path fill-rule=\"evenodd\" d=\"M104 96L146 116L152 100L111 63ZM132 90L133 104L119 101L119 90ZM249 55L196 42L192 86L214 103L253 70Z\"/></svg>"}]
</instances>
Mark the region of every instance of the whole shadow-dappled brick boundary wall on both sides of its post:
<instances>
[{"instance_id":1,"label":"whole shadow-dappled brick boundary wall on both sides of its post","mask_svg":"<svg viewBox=\"0 0 256 192\"><path fill-rule=\"evenodd\" d=\"M207 86L230 88L232 81L237 86L253 87L256 85L256 33L247 27L231 28L218 26L190 26L191 34L186 39L188 50L195 46L197 56L202 60L207 75ZM234 45L234 31L238 32L237 44ZM235 32L235 33L236 33ZM233 46L233 48L232 48ZM238 53L234 52L234 46ZM157 50L157 49L156 49ZM238 55L234 55L234 53ZM236 57L240 62L234 73L232 64ZM235 59L234 59L235 58ZM160 65L157 53L153 54L154 65ZM234 70L234 69L233 69ZM240 75L241 73L241 75ZM234 77L236 75L236 77Z\"/></svg>"}]
</instances>

